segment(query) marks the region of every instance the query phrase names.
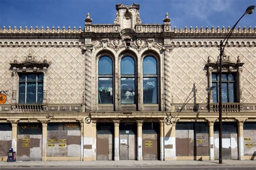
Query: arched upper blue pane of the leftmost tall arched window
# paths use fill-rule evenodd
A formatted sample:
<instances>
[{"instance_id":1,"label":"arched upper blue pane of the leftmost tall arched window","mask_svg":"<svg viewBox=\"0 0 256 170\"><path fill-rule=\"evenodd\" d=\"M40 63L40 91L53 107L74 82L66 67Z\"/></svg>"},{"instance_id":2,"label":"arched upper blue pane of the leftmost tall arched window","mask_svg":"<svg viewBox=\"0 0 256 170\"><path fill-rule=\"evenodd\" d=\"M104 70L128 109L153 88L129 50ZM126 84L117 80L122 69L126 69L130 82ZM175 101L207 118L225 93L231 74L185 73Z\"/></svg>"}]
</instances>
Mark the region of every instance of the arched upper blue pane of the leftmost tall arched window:
<instances>
[{"instance_id":1,"label":"arched upper blue pane of the leftmost tall arched window","mask_svg":"<svg viewBox=\"0 0 256 170\"><path fill-rule=\"evenodd\" d=\"M113 74L113 62L110 57L104 56L99 59L99 74Z\"/></svg>"}]
</instances>

